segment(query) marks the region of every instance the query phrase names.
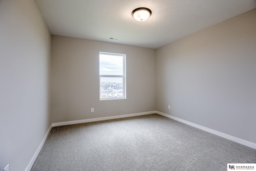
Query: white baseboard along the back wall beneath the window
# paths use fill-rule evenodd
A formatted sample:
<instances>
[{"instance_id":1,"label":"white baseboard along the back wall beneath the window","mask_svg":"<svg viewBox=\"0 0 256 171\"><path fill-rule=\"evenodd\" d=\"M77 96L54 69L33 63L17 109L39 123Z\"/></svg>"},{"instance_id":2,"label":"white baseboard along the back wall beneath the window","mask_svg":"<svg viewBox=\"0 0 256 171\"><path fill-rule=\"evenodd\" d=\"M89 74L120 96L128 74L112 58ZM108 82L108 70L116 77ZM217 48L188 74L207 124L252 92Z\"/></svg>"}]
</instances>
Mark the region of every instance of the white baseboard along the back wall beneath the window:
<instances>
[{"instance_id":1,"label":"white baseboard along the back wall beneath the window","mask_svg":"<svg viewBox=\"0 0 256 171\"><path fill-rule=\"evenodd\" d=\"M77 123L104 121L104 120L108 120L108 119L118 119L118 118L124 118L124 117L148 115L148 114L153 114L153 113L156 113L156 111L147 111L147 112L142 112L142 113L133 113L133 114L127 114L127 115L117 115L117 116L108 116L108 117L98 117L98 118L93 118L93 119L83 119L83 120L77 120L77 121L58 122L58 123L52 123L52 126L56 127L56 126L62 126L62 125L72 125L72 124L77 124Z\"/></svg>"}]
</instances>

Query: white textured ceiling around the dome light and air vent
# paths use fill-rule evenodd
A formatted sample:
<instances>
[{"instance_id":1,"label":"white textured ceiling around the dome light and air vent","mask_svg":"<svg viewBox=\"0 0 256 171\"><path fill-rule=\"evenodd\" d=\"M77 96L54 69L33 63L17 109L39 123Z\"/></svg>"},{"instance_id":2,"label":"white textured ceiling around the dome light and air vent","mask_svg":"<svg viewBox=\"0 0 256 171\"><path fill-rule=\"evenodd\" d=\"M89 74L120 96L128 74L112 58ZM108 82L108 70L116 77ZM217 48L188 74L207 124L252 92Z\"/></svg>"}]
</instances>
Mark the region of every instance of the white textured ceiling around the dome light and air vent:
<instances>
[{"instance_id":1,"label":"white textured ceiling around the dome light and air vent","mask_svg":"<svg viewBox=\"0 0 256 171\"><path fill-rule=\"evenodd\" d=\"M170 42L256 8L256 0L35 0L50 33L146 48ZM131 13L146 7L145 22ZM109 37L119 40L109 40Z\"/></svg>"}]
</instances>

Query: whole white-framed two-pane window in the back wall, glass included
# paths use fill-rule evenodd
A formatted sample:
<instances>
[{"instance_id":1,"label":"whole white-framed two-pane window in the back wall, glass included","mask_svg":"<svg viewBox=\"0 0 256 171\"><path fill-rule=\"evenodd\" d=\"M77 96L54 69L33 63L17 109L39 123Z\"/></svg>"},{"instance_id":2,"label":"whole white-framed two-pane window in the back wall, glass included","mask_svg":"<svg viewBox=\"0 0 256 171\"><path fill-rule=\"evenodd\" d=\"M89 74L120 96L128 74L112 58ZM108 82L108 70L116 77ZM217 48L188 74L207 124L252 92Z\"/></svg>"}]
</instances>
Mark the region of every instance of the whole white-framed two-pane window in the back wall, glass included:
<instances>
[{"instance_id":1,"label":"whole white-framed two-pane window in the back wall, glass included","mask_svg":"<svg viewBox=\"0 0 256 171\"><path fill-rule=\"evenodd\" d=\"M100 52L100 100L126 99L126 55Z\"/></svg>"}]
</instances>

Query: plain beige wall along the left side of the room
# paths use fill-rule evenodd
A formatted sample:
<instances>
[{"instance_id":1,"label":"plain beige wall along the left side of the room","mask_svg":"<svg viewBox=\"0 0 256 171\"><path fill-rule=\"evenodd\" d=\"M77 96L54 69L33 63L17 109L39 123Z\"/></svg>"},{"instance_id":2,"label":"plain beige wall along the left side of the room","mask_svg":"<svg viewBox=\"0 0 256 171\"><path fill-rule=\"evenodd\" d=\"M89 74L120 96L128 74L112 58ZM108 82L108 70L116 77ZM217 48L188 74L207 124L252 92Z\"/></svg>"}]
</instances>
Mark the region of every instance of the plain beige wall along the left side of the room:
<instances>
[{"instance_id":1,"label":"plain beige wall along the left side of the room","mask_svg":"<svg viewBox=\"0 0 256 171\"><path fill-rule=\"evenodd\" d=\"M0 170L24 171L52 123L50 40L34 0L0 0Z\"/></svg>"}]
</instances>

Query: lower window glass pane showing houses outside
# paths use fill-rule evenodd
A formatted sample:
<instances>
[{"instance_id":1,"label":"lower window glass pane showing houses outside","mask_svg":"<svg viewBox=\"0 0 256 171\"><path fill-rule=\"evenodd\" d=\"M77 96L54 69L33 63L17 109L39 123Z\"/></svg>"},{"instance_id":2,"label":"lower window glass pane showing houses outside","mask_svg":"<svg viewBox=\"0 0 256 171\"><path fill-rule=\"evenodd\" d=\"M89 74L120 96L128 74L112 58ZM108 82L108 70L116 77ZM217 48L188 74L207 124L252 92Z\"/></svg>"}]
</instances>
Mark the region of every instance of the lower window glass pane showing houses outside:
<instances>
[{"instance_id":1,"label":"lower window glass pane showing houses outside","mask_svg":"<svg viewBox=\"0 0 256 171\"><path fill-rule=\"evenodd\" d=\"M123 78L101 77L100 98L123 97Z\"/></svg>"}]
</instances>

